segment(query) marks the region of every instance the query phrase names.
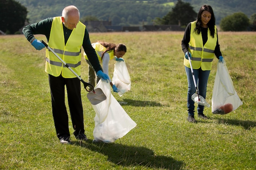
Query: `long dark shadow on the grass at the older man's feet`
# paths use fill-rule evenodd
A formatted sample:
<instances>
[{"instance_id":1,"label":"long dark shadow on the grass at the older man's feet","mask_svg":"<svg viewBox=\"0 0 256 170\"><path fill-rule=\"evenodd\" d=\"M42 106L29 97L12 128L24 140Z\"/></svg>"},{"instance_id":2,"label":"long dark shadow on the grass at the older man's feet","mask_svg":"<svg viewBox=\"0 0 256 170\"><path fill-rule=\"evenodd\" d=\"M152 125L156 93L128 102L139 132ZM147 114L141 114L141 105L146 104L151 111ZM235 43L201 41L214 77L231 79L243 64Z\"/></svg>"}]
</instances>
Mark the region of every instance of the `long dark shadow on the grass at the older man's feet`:
<instances>
[{"instance_id":1,"label":"long dark shadow on the grass at the older man's feet","mask_svg":"<svg viewBox=\"0 0 256 170\"><path fill-rule=\"evenodd\" d=\"M145 168L180 170L184 165L182 161L177 161L172 157L155 155L153 150L145 147L126 146L117 143L92 143L91 139L82 145L79 142L76 144L106 155L108 161L124 167L143 166Z\"/></svg>"}]
</instances>

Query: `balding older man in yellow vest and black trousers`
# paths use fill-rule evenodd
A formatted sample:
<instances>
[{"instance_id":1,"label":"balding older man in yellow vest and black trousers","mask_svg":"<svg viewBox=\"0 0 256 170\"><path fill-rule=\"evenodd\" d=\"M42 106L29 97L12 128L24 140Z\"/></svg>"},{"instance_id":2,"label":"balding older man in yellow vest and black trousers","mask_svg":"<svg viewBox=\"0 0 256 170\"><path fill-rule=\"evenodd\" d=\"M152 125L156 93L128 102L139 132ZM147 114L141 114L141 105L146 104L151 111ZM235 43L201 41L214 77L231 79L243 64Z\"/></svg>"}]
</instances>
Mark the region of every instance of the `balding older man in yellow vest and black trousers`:
<instances>
[{"instance_id":1,"label":"balding older man in yellow vest and black trousers","mask_svg":"<svg viewBox=\"0 0 256 170\"><path fill-rule=\"evenodd\" d=\"M54 49L63 61L79 76L81 75L81 46L83 46L97 75L107 80L108 75L102 72L97 54L94 48L92 48L86 26L79 21L79 18L79 10L75 6L68 6L63 9L61 17L51 17L25 26L23 34L36 50L41 50L45 46L34 35L45 35L49 47ZM52 115L57 137L60 139L61 144L72 144L65 106L65 86L74 128L73 134L76 139L87 140L83 123L79 78L66 68L48 49L46 50L45 72L48 73L52 99Z\"/></svg>"}]
</instances>

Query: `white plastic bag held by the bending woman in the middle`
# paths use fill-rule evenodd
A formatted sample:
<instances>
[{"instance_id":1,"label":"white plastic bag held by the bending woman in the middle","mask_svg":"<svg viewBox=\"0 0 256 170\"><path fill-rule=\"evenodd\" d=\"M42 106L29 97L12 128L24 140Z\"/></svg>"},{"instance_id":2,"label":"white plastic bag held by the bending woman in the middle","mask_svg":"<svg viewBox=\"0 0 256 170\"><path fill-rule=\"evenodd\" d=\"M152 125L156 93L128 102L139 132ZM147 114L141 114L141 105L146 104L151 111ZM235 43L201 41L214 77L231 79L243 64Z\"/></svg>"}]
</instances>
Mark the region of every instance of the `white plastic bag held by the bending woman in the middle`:
<instances>
[{"instance_id":1,"label":"white plastic bag held by the bending woman in the middle","mask_svg":"<svg viewBox=\"0 0 256 170\"><path fill-rule=\"evenodd\" d=\"M125 92L131 89L131 78L124 61L115 63L112 83L120 90L118 95L121 97Z\"/></svg>"}]
</instances>

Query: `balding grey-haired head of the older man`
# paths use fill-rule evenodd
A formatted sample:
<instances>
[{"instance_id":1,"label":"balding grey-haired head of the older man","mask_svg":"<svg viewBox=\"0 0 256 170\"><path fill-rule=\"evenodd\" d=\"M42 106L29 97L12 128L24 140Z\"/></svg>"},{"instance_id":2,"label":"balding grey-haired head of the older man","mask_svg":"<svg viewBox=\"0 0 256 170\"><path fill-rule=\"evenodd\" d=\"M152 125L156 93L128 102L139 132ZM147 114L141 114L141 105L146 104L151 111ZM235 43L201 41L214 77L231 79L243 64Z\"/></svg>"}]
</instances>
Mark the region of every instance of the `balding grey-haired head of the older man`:
<instances>
[{"instance_id":1,"label":"balding grey-haired head of the older man","mask_svg":"<svg viewBox=\"0 0 256 170\"><path fill-rule=\"evenodd\" d=\"M62 11L61 19L64 26L72 30L76 28L76 25L79 22L79 19L80 19L79 10L73 5L67 6Z\"/></svg>"}]
</instances>

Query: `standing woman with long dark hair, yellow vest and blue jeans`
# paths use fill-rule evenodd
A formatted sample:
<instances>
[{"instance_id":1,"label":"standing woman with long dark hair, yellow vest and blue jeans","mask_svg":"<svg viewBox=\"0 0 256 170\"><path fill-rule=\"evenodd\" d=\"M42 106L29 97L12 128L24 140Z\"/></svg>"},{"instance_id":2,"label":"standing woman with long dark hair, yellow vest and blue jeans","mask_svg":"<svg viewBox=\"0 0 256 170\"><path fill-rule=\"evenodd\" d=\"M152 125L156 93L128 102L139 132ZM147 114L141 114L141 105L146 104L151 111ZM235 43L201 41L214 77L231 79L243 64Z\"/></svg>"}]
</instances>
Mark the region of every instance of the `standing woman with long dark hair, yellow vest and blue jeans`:
<instances>
[{"instance_id":1,"label":"standing woman with long dark hair, yellow vest and blue jeans","mask_svg":"<svg viewBox=\"0 0 256 170\"><path fill-rule=\"evenodd\" d=\"M195 102L191 96L195 93L195 85L189 64L191 59L195 81L197 82L200 96L206 98L207 82L212 67L214 54L222 62L222 54L218 43L218 33L215 25L213 9L209 5L203 5L199 12L197 20L190 22L186 27L182 39L182 50L185 54L184 65L188 79L187 107L189 122L197 122L194 117ZM198 117L208 119L204 115L204 106L198 105Z\"/></svg>"}]
</instances>

